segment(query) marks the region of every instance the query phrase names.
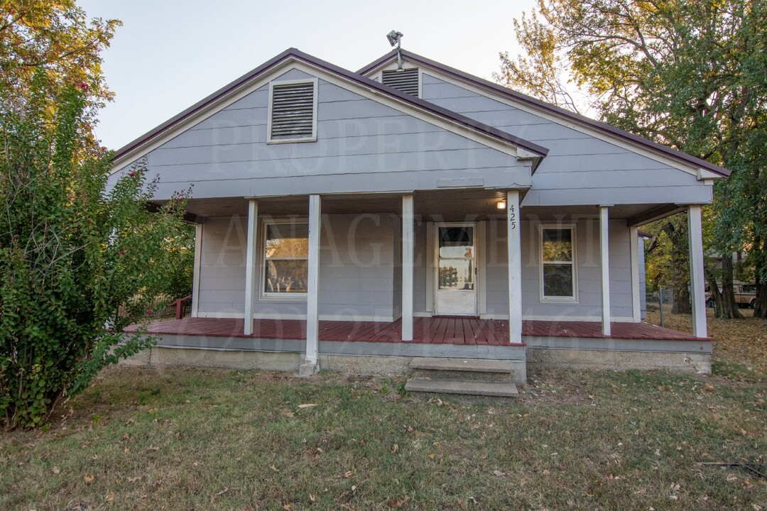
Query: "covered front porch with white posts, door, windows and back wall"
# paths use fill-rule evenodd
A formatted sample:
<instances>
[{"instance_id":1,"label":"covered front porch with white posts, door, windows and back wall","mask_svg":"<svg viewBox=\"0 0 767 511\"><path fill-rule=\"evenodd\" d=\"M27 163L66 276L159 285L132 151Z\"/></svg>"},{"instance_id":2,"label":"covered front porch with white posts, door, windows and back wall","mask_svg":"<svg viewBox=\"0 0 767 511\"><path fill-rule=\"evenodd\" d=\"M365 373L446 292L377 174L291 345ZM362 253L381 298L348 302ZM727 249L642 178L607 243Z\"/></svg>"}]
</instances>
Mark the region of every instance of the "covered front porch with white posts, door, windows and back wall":
<instances>
[{"instance_id":1,"label":"covered front porch with white posts, door, windows and back wall","mask_svg":"<svg viewBox=\"0 0 767 511\"><path fill-rule=\"evenodd\" d=\"M149 333L208 349L290 345L306 373L337 342L355 344L357 355L371 354L370 345L409 356L421 355L417 346L459 346L447 352L522 361L525 346L652 352L658 342L697 342L693 351L710 352L705 319L696 318L694 336L640 323L637 225L669 210L521 208L524 195L469 188L190 200L198 224L193 318L155 323ZM700 208L689 211L690 232L700 236ZM553 263L549 248L560 256ZM566 274L552 274L555 296L548 270ZM465 310L443 312L459 293ZM482 346L518 352L465 351Z\"/></svg>"}]
</instances>

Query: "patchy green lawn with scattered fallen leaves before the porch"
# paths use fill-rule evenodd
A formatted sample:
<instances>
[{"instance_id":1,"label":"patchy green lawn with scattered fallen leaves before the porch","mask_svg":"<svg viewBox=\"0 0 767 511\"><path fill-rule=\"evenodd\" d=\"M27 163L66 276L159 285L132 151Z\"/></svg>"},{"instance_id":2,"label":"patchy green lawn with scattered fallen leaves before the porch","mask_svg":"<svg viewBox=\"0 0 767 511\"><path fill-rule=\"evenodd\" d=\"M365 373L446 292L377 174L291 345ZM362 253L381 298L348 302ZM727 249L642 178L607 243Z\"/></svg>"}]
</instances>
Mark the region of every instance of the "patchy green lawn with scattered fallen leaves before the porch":
<instances>
[{"instance_id":1,"label":"patchy green lawn with scattered fallen leaves before the porch","mask_svg":"<svg viewBox=\"0 0 767 511\"><path fill-rule=\"evenodd\" d=\"M544 372L509 403L398 380L112 368L0 435L0 509L767 509L764 385Z\"/></svg>"}]
</instances>

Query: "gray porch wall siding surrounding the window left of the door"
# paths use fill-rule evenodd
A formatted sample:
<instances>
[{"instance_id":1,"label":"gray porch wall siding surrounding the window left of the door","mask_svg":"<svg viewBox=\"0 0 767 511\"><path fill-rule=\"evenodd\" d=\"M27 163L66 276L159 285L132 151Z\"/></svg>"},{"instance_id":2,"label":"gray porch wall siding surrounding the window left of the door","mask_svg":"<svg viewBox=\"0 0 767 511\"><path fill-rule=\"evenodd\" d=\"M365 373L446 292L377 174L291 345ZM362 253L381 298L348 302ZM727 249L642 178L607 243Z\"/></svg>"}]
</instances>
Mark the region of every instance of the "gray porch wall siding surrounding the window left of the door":
<instances>
[{"instance_id":1,"label":"gray porch wall siding surrounding the window left of the door","mask_svg":"<svg viewBox=\"0 0 767 511\"><path fill-rule=\"evenodd\" d=\"M210 218L203 225L199 316L242 317L246 225L247 219L242 217ZM262 228L259 223L258 254L263 253ZM392 320L396 294L393 217L323 215L320 242L321 318ZM258 264L256 316L304 317L306 301L300 297L277 300L261 296L260 257Z\"/></svg>"}]
</instances>

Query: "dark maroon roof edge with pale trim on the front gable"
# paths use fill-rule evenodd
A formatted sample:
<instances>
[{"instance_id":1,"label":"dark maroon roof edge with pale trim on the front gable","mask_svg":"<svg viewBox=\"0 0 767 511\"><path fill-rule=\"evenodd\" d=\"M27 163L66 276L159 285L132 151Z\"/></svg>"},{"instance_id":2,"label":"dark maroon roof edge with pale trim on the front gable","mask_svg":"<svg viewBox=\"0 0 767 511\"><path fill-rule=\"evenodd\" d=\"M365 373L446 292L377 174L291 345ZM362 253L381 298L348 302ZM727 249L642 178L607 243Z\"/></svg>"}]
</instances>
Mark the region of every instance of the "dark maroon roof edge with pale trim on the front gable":
<instances>
[{"instance_id":1,"label":"dark maroon roof edge with pale trim on the front gable","mask_svg":"<svg viewBox=\"0 0 767 511\"><path fill-rule=\"evenodd\" d=\"M131 152L140 149L140 147L145 146L148 142L173 129L174 126L178 125L179 123L183 123L184 120L187 120L189 117L194 116L201 110L204 110L207 106L211 105L212 103L216 103L216 101L222 100L222 98L235 93L237 90L241 90L242 87L247 86L253 80L256 80L258 77L268 73L268 71L273 67L288 60L310 64L311 66L317 67L321 70L324 70L325 72L335 74L338 77L342 77L346 80L354 82L355 84L359 84L362 87L366 87L369 90L373 90L376 93L391 97L393 99L399 100L402 103L407 103L407 105L415 107L416 109L426 111L427 113L430 113L434 116L438 116L444 120L449 121L450 123L454 123L458 126L463 126L466 129L480 133L484 136L489 136L492 139L499 140L500 142L504 142L511 146L525 149L525 151L532 152L535 156L538 156L538 158L542 158L548 153L548 149L545 147L538 146L538 144L529 142L525 139L521 139L518 136L513 136L510 133L506 133L502 129L497 129L493 126L479 123L478 121L473 120L467 116L452 112L441 106L429 103L428 101L420 100L417 97L410 96L410 94L401 93L399 90L388 87L387 85L380 84L376 80L370 80L370 78L364 77L360 74L345 70L342 67L338 67L329 62L322 61L321 59L313 57L310 54L306 54L296 48L288 48L288 50L285 50L281 54L278 54L276 57L266 61L264 64L261 64L249 73L242 75L242 77L237 78L230 84L227 84L221 89L216 90L216 92L210 94L205 99L195 103L193 106L189 106L189 108L177 114L176 116L173 116L170 120L160 124L160 126L156 126L156 128L151 129L147 133L144 133L139 138L133 140L133 142L129 142L127 145L117 149L117 152L114 153L113 161L117 162L117 160L129 155Z\"/></svg>"}]
</instances>

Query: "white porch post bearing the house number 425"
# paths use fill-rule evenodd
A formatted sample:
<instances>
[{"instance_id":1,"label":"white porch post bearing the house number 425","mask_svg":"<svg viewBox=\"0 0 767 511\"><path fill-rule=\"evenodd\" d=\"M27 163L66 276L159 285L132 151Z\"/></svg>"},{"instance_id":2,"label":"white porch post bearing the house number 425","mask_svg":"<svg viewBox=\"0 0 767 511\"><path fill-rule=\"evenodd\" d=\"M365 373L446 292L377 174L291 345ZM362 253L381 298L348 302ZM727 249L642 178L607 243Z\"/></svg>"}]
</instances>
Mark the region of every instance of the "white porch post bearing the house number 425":
<instances>
[{"instance_id":1,"label":"white porch post bearing the house number 425","mask_svg":"<svg viewBox=\"0 0 767 511\"><path fill-rule=\"evenodd\" d=\"M522 342L522 225L519 223L519 192L506 192L509 252L509 340Z\"/></svg>"}]
</instances>

